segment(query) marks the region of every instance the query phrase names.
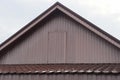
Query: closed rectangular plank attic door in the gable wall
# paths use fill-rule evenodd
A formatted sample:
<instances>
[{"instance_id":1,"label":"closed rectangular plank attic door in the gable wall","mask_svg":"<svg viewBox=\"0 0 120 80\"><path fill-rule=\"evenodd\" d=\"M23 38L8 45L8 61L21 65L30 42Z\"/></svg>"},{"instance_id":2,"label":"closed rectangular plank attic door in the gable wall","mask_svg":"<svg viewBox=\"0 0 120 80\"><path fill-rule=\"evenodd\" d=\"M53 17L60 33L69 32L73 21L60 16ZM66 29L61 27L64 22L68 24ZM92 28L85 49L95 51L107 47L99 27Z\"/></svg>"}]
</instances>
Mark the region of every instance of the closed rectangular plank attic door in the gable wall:
<instances>
[{"instance_id":1,"label":"closed rectangular plank attic door in the gable wall","mask_svg":"<svg viewBox=\"0 0 120 80\"><path fill-rule=\"evenodd\" d=\"M48 32L48 63L65 63L66 32Z\"/></svg>"}]
</instances>

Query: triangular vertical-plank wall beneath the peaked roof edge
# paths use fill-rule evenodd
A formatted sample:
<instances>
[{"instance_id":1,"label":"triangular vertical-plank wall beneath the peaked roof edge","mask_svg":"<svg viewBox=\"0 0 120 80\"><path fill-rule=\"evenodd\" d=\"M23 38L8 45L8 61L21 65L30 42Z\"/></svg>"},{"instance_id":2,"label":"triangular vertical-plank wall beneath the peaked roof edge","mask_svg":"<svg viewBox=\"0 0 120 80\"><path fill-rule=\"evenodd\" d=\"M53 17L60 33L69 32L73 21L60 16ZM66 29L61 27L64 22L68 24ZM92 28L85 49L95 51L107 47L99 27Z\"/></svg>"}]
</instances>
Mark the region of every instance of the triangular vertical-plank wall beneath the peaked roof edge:
<instances>
[{"instance_id":1,"label":"triangular vertical-plank wall beneath the peaked roof edge","mask_svg":"<svg viewBox=\"0 0 120 80\"><path fill-rule=\"evenodd\" d=\"M59 13L36 27L39 29L6 53L0 60L1 64L120 63L120 49L66 15ZM48 41L49 36L53 35L58 43L48 43L52 41L52 38ZM51 58L54 59L50 61Z\"/></svg>"}]
</instances>

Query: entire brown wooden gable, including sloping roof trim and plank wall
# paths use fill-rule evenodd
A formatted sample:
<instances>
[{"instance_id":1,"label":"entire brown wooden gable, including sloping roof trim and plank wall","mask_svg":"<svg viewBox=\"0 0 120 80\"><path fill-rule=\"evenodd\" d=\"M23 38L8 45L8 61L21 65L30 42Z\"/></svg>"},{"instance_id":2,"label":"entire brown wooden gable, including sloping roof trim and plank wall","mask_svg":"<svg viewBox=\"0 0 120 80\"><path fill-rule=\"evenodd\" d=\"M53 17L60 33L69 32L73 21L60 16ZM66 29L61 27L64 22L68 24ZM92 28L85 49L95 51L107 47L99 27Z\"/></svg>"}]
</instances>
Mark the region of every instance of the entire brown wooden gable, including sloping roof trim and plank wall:
<instances>
[{"instance_id":1,"label":"entire brown wooden gable, including sloping roof trim and plank wall","mask_svg":"<svg viewBox=\"0 0 120 80\"><path fill-rule=\"evenodd\" d=\"M46 31L48 35L44 33ZM68 35L67 31L70 31L69 36L66 36ZM46 41L46 36L49 41ZM74 38L77 38L76 41ZM68 46L65 45L67 44L66 40L68 40ZM21 46L21 42L27 46ZM78 45L75 46L74 44ZM48 50L46 50L46 48L48 48ZM69 48L69 50L67 51L66 48ZM21 49L21 51L19 51L19 49ZM35 55L34 53L36 52L39 55ZM52 55L46 54L47 52ZM12 53L17 54L17 56ZM30 60L28 64L31 64L30 62L37 64L119 63L119 53L119 40L57 2L1 44L0 63L24 64L25 60ZM4 55L11 59L8 59ZM34 58L36 58L36 60L34 60ZM16 59L21 59L20 63L19 61L15 61ZM25 62L25 64L27 64L27 62Z\"/></svg>"}]
</instances>

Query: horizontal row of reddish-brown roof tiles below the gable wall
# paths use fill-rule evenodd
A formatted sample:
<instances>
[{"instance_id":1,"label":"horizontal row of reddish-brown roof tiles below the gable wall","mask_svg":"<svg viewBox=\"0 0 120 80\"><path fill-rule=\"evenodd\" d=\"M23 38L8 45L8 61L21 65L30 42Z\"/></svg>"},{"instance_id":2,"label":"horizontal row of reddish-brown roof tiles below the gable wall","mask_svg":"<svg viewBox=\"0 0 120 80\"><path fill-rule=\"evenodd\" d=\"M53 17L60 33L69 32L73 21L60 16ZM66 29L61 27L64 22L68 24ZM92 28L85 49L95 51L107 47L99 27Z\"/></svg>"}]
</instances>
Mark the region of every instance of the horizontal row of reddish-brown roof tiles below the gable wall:
<instances>
[{"instance_id":1,"label":"horizontal row of reddish-brown roof tiles below the gable wall","mask_svg":"<svg viewBox=\"0 0 120 80\"><path fill-rule=\"evenodd\" d=\"M120 64L18 64L0 65L0 74L120 73Z\"/></svg>"}]
</instances>

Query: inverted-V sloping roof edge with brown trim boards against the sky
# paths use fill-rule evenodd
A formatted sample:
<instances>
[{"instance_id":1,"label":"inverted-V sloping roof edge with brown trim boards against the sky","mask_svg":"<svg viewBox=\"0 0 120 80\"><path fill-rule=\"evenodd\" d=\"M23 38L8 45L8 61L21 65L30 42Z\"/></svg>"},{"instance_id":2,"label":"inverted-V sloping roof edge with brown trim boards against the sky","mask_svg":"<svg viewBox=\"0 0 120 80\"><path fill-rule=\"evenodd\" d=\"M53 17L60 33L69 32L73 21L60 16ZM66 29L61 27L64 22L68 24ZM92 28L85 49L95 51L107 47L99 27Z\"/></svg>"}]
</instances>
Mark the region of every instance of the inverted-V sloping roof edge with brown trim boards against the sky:
<instances>
[{"instance_id":1,"label":"inverted-V sloping roof edge with brown trim boards against the sky","mask_svg":"<svg viewBox=\"0 0 120 80\"><path fill-rule=\"evenodd\" d=\"M64 5L62 5L59 2L56 2L53 6L51 6L49 9L47 9L44 13L39 15L36 19L31 21L29 24L27 24L25 27L23 27L21 30L19 30L17 33L15 33L12 37L7 39L5 42L3 42L0 45L0 54L2 54L3 51L8 49L12 44L15 44L15 41L22 38L22 36L30 31L37 23L41 23L47 16L52 14L54 11L59 10L62 13L66 14L76 22L80 23L90 31L94 32L104 40L108 41L112 45L116 46L120 49L120 41L116 39L115 37L109 35L105 31L98 28L96 25L92 24L91 22L87 21L83 17L79 16L78 14L74 13L70 9L66 8Z\"/></svg>"}]
</instances>

